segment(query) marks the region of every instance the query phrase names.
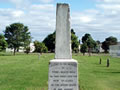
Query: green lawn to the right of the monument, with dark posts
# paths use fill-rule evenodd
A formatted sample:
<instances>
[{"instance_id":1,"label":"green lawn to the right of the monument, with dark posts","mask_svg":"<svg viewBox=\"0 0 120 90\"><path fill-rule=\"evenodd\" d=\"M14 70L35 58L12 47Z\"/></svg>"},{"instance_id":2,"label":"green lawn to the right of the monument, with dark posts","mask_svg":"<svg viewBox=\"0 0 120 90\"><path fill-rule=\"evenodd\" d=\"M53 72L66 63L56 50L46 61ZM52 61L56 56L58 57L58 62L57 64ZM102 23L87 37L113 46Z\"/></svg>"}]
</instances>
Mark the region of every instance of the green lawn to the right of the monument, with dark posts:
<instances>
[{"instance_id":1,"label":"green lawn to the right of the monument, with dark posts","mask_svg":"<svg viewBox=\"0 0 120 90\"><path fill-rule=\"evenodd\" d=\"M79 62L81 90L120 90L120 58L110 56L73 56ZM99 64L99 58L102 64ZM110 67L106 60L110 59Z\"/></svg>"}]
</instances>

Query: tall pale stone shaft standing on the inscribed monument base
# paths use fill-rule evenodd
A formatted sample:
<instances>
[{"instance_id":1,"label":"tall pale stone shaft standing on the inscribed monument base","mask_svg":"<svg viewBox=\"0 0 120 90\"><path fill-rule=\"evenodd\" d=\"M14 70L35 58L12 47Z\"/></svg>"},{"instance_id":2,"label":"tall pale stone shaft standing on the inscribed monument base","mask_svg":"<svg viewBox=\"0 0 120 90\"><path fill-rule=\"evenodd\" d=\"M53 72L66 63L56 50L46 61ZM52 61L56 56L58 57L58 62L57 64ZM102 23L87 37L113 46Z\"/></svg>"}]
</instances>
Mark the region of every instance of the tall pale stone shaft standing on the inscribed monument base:
<instances>
[{"instance_id":1,"label":"tall pale stone shaft standing on the inscribed monument base","mask_svg":"<svg viewBox=\"0 0 120 90\"><path fill-rule=\"evenodd\" d=\"M56 12L56 59L71 59L70 12L68 4L57 4Z\"/></svg>"}]
</instances>

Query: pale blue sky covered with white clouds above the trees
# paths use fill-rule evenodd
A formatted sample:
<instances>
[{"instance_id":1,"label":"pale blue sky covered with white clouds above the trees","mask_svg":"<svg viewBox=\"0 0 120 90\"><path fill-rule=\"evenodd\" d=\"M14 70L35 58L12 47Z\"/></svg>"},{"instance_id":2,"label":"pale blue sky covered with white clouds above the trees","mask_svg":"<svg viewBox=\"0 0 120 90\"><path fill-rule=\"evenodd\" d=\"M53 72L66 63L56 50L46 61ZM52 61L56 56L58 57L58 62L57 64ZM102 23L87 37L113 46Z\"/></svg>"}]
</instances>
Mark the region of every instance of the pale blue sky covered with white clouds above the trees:
<instances>
[{"instance_id":1,"label":"pale blue sky covered with white clouds above the trees","mask_svg":"<svg viewBox=\"0 0 120 90\"><path fill-rule=\"evenodd\" d=\"M120 0L0 0L0 33L21 22L33 40L42 41L55 30L56 3L69 3L71 28L79 39L90 33L95 40L115 36L120 41Z\"/></svg>"}]
</instances>

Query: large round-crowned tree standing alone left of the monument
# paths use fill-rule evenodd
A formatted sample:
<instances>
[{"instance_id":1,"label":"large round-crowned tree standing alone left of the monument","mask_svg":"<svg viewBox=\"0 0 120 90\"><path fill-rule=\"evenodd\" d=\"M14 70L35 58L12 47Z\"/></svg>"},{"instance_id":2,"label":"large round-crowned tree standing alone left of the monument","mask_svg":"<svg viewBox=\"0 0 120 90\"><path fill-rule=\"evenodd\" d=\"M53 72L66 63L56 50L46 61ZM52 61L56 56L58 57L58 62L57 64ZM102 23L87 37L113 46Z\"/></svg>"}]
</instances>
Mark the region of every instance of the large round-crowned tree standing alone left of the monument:
<instances>
[{"instance_id":1,"label":"large round-crowned tree standing alone left of the monument","mask_svg":"<svg viewBox=\"0 0 120 90\"><path fill-rule=\"evenodd\" d=\"M8 47L14 49L14 55L16 50L19 50L20 46L27 46L31 40L28 27L24 26L22 23L13 23L7 26L4 31L4 36L7 40Z\"/></svg>"}]
</instances>

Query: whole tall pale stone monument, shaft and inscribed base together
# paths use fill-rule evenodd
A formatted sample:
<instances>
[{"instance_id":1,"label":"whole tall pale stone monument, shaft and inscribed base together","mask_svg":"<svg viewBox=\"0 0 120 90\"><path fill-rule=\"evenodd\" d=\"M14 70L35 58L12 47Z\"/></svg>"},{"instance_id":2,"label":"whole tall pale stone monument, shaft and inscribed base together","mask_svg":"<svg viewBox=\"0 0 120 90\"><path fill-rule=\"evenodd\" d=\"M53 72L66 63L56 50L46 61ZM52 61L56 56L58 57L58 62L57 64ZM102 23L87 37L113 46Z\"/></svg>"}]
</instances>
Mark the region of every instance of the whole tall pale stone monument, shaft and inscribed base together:
<instances>
[{"instance_id":1,"label":"whole tall pale stone monument, shaft and inscribed base together","mask_svg":"<svg viewBox=\"0 0 120 90\"><path fill-rule=\"evenodd\" d=\"M57 4L55 59L49 62L48 90L78 90L78 63L72 59L70 10Z\"/></svg>"}]
</instances>

